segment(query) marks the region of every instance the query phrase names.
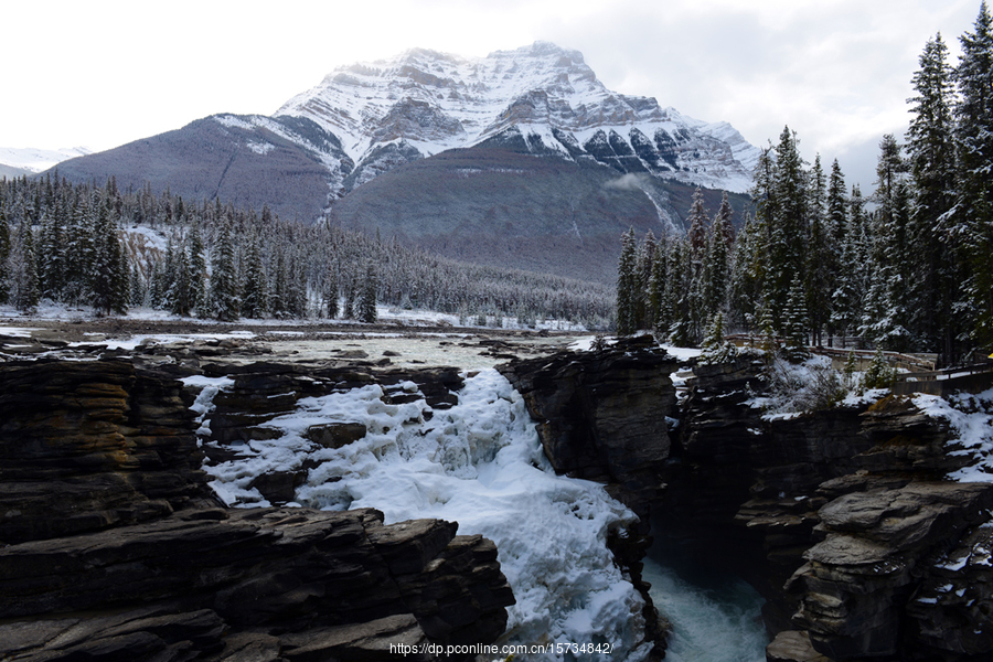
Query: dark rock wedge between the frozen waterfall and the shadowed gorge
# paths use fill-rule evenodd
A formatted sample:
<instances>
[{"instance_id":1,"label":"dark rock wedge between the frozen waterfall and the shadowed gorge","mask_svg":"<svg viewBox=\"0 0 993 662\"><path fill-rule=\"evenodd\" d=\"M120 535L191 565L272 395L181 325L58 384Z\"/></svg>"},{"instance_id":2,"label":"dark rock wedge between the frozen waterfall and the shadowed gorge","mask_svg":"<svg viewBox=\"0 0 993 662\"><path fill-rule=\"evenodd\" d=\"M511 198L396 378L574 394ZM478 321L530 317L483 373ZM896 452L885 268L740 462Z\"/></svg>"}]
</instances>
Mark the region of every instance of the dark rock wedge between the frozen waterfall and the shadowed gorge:
<instances>
[{"instance_id":1,"label":"dark rock wedge between the frozen waterfall and the shadowed gorge","mask_svg":"<svg viewBox=\"0 0 993 662\"><path fill-rule=\"evenodd\" d=\"M664 654L664 627L641 580L651 504L669 457L669 424L676 361L651 337L618 341L592 352L560 352L500 366L524 397L545 456L559 473L606 483L640 517L626 537L611 536L615 558L645 600L645 637Z\"/></svg>"}]
</instances>

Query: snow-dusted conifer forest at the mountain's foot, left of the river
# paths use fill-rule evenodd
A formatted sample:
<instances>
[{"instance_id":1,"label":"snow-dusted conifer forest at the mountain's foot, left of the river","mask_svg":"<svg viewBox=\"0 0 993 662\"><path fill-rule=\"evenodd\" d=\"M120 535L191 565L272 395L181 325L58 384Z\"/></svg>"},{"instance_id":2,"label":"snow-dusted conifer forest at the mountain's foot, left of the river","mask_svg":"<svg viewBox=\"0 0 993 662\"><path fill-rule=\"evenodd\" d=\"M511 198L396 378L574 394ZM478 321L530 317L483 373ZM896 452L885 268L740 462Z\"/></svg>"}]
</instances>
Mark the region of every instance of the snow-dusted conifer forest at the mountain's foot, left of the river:
<instances>
[{"instance_id":1,"label":"snow-dusted conifer forest at the mountain's foot, left of the river","mask_svg":"<svg viewBox=\"0 0 993 662\"><path fill-rule=\"evenodd\" d=\"M371 322L380 303L606 329L612 298L599 284L444 259L378 234L280 220L266 206L191 203L148 185L124 192L114 179L0 180L0 303L22 311L50 301L98 314L150 307L217 320Z\"/></svg>"}]
</instances>

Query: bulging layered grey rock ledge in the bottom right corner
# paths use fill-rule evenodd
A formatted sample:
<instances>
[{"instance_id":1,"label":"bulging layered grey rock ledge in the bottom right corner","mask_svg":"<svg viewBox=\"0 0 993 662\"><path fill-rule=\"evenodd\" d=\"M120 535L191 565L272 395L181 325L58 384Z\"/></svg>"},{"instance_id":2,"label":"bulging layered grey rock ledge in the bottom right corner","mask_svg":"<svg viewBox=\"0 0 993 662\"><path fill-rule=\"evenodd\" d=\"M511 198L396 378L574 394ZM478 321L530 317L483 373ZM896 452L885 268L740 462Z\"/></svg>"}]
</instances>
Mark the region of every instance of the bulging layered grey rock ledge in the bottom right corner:
<instances>
[{"instance_id":1,"label":"bulging layered grey rock ledge in the bottom right corner","mask_svg":"<svg viewBox=\"0 0 993 662\"><path fill-rule=\"evenodd\" d=\"M989 520L991 506L993 485L986 483L914 481L839 496L819 511L818 530L826 537L804 553L808 563L789 585L802 595L793 622L807 628L814 648L834 660L961 652L961 645L949 650L943 639L935 638L933 627L930 650L921 650L921 642L914 641L920 628L910 627L919 617L908 618L906 610L929 604L911 598L931 574L928 558ZM929 611L921 616L943 620L938 609ZM980 617L976 626L986 620L979 609L974 616ZM961 623L953 628L955 637L962 630ZM983 652L993 649L990 634L970 638L985 644ZM908 639L916 645L908 647Z\"/></svg>"}]
</instances>

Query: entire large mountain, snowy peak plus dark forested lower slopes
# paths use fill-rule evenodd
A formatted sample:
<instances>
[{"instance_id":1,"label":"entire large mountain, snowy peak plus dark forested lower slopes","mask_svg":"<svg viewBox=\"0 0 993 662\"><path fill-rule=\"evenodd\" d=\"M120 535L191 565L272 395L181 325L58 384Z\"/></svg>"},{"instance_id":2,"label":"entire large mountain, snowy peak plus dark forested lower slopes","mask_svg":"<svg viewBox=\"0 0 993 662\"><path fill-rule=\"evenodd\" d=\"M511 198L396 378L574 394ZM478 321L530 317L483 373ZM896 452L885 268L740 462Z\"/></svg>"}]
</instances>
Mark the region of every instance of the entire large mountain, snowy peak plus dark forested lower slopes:
<instances>
[{"instance_id":1,"label":"entire large mountain, snowy peak plus dark forested lower slopes","mask_svg":"<svg viewBox=\"0 0 993 662\"><path fill-rule=\"evenodd\" d=\"M580 53L537 42L344 66L273 117L212 116L57 171L612 282L620 234L682 229L697 185L712 214L726 190L744 218L758 153L726 122L610 92Z\"/></svg>"}]
</instances>

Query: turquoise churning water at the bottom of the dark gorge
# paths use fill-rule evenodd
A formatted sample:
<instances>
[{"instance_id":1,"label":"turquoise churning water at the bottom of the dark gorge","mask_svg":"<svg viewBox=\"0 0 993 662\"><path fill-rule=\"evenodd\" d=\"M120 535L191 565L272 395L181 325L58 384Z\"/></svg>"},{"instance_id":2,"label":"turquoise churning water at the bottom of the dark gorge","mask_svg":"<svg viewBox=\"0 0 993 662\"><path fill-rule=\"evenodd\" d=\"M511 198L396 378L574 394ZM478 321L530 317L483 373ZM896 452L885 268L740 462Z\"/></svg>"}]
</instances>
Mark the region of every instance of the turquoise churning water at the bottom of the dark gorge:
<instances>
[{"instance_id":1,"label":"turquoise churning water at the bottom of the dark gorge","mask_svg":"<svg viewBox=\"0 0 993 662\"><path fill-rule=\"evenodd\" d=\"M765 662L761 596L741 579L658 547L644 559L643 577L672 623L666 662Z\"/></svg>"}]
</instances>

